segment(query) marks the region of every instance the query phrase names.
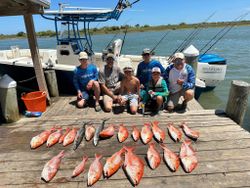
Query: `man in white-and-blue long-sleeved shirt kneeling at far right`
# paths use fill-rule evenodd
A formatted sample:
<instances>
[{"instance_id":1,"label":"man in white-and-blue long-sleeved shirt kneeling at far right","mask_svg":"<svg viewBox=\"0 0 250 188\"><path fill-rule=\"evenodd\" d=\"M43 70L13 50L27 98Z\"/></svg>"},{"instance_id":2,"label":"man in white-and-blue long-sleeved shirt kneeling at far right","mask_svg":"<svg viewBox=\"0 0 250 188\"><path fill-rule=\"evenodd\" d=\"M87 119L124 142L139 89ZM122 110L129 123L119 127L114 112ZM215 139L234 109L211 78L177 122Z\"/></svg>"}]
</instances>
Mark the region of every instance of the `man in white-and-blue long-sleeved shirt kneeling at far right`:
<instances>
[{"instance_id":1,"label":"man in white-and-blue long-sleeved shirt kneeling at far right","mask_svg":"<svg viewBox=\"0 0 250 188\"><path fill-rule=\"evenodd\" d=\"M194 97L195 73L193 68L185 63L183 53L175 53L173 63L165 71L165 80L170 91L167 110L172 112L179 106L184 97L180 110L186 110L187 102Z\"/></svg>"}]
</instances>

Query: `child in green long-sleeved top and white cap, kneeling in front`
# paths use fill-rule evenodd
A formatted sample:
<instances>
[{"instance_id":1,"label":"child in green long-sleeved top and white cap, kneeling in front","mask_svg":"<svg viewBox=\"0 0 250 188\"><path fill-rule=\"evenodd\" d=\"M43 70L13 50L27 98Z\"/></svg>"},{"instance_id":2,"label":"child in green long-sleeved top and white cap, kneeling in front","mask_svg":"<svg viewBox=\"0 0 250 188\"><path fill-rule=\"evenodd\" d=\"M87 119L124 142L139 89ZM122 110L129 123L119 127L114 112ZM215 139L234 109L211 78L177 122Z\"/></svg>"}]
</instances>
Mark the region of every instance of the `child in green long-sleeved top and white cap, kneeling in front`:
<instances>
[{"instance_id":1,"label":"child in green long-sleeved top and white cap, kneeling in front","mask_svg":"<svg viewBox=\"0 0 250 188\"><path fill-rule=\"evenodd\" d=\"M142 97L143 106L150 101L152 107L156 106L156 108L154 108L156 110L155 114L159 114L163 102L167 101L167 96L168 88L166 81L161 77L161 69L159 67L154 67L152 69L152 78L149 80L145 95Z\"/></svg>"}]
</instances>

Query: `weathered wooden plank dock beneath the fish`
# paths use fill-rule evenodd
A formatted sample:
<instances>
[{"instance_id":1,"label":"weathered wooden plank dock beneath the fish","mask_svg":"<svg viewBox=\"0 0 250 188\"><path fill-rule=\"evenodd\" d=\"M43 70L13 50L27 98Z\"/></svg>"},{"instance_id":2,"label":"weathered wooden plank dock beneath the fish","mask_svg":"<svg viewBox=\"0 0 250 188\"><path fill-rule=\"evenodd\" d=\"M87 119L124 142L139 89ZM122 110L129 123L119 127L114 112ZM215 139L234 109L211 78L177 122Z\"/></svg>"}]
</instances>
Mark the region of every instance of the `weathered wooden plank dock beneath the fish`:
<instances>
[{"instance_id":1,"label":"weathered wooden plank dock beneath the fish","mask_svg":"<svg viewBox=\"0 0 250 188\"><path fill-rule=\"evenodd\" d=\"M124 123L131 131L132 125L142 127L144 122L160 121L160 126L166 130L169 122L179 125L186 121L189 127L201 134L193 147L197 152L198 166L192 173L185 173L180 167L172 173L162 161L156 170L147 165L139 187L249 187L250 186L250 134L243 130L225 115L215 115L214 110L204 110L197 105L189 107L185 113L163 114L155 117L114 115L112 113L95 113L92 108L77 109L72 97L60 97L40 118L22 118L17 123L0 126L0 187L87 187L86 179L90 162L95 153L104 158L111 156L123 145L136 146L135 153L141 158L146 156L147 145L141 141L135 143L129 137L120 144L116 137L101 141L98 147L92 142L82 145L74 152L72 146L62 147L57 144L51 148L45 145L36 150L29 147L30 139L45 129L54 125L80 127L85 120L93 120L99 124L104 117L111 117L109 123ZM195 103L195 102L194 102ZM193 104L192 106L194 106ZM181 143L174 143L167 136L165 143L170 149L179 152ZM158 151L162 153L160 147ZM60 170L50 183L40 180L44 164L61 150L66 151ZM90 159L83 174L75 179L70 176L74 167L81 161L83 155ZM101 179L93 187L131 187L124 172L120 169L110 179Z\"/></svg>"}]
</instances>

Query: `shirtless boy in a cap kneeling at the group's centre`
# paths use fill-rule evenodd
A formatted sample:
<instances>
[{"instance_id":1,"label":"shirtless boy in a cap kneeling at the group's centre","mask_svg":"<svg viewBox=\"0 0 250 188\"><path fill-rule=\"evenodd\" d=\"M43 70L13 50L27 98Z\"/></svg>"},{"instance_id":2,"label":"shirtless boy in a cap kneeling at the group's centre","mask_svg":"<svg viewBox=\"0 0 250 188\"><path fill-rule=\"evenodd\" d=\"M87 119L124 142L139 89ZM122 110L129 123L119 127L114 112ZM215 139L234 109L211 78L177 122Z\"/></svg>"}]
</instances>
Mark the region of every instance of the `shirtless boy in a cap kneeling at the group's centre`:
<instances>
[{"instance_id":1,"label":"shirtless boy in a cap kneeling at the group's centre","mask_svg":"<svg viewBox=\"0 0 250 188\"><path fill-rule=\"evenodd\" d=\"M118 100L121 106L125 106L129 103L130 113L136 114L140 93L140 81L133 76L133 71L134 70L131 66L123 68L124 78L121 81L121 95Z\"/></svg>"}]
</instances>

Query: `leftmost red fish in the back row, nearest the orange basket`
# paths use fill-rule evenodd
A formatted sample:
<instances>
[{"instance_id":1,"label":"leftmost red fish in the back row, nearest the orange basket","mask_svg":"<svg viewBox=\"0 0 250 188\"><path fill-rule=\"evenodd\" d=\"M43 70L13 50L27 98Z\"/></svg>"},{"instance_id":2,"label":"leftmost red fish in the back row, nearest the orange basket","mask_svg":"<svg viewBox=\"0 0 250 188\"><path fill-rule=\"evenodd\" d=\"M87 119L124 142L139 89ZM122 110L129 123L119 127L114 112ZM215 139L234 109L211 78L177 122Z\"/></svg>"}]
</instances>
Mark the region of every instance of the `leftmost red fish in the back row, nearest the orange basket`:
<instances>
[{"instance_id":1,"label":"leftmost red fish in the back row, nearest the orange basket","mask_svg":"<svg viewBox=\"0 0 250 188\"><path fill-rule=\"evenodd\" d=\"M55 128L51 128L50 130L43 131L37 136L34 136L30 141L30 148L35 149L39 146L43 145L49 138L49 135L55 130Z\"/></svg>"}]
</instances>

